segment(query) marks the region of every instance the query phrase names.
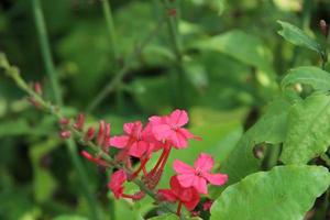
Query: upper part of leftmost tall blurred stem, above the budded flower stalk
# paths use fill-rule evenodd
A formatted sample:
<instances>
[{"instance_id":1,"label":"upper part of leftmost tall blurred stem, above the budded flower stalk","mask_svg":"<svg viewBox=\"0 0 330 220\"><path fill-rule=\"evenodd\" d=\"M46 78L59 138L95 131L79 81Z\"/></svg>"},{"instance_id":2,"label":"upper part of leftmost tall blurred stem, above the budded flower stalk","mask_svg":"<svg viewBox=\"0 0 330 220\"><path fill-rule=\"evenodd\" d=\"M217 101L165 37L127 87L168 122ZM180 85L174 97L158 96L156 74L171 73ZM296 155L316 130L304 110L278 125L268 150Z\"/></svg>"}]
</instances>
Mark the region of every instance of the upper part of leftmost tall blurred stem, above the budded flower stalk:
<instances>
[{"instance_id":1,"label":"upper part of leftmost tall blurred stem, above the budded flower stalk","mask_svg":"<svg viewBox=\"0 0 330 220\"><path fill-rule=\"evenodd\" d=\"M46 73L51 80L53 95L57 105L62 106L61 88L58 84L58 77L55 72L53 57L51 53L51 46L47 37L47 30L45 24L44 14L41 8L40 0L32 0L32 9L34 14L34 22L38 35L38 43L43 56Z\"/></svg>"}]
</instances>

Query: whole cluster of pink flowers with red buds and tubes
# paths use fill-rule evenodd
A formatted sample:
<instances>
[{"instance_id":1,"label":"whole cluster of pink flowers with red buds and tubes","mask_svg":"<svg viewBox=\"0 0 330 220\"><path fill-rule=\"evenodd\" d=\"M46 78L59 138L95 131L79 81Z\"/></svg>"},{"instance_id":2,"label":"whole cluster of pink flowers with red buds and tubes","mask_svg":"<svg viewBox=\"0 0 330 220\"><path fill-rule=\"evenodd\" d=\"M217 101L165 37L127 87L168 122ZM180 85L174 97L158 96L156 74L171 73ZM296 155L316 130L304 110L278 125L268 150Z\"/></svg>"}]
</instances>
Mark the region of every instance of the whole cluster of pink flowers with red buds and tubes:
<instances>
[{"instance_id":1,"label":"whole cluster of pink flowers with red buds and tubes","mask_svg":"<svg viewBox=\"0 0 330 220\"><path fill-rule=\"evenodd\" d=\"M110 135L110 124L100 121L99 130L95 136L95 129L90 127L84 138L84 141L90 142L96 139L96 144L100 146L103 153L109 153L110 147L116 147L119 152L114 155L114 163L118 168L110 177L109 189L116 198L130 198L139 200L144 197L144 191L138 191L134 195L124 194L124 184L133 182L141 176L142 183L150 189L155 187L161 180L164 167L169 153L173 148L180 150L188 146L188 140L201 140L191 134L184 128L188 123L188 114L184 110L175 110L168 116L153 116L148 123L143 127L141 121L125 123L122 135ZM66 120L62 124L68 123ZM78 114L74 128L78 131L84 130L84 117ZM62 131L61 136L66 139L70 135L69 131ZM146 164L155 152L162 151L157 162L147 170ZM111 166L99 155L92 156L87 151L81 152L82 156L99 166ZM132 157L140 161L140 166L133 169ZM208 194L208 184L221 186L228 176L223 174L212 174L213 158L205 153L199 154L194 167L176 160L173 168L176 175L170 178L169 189L155 190L160 200L168 202L178 202L177 215L180 215L182 206L193 211L200 200L200 195ZM142 173L142 175L141 175Z\"/></svg>"}]
</instances>

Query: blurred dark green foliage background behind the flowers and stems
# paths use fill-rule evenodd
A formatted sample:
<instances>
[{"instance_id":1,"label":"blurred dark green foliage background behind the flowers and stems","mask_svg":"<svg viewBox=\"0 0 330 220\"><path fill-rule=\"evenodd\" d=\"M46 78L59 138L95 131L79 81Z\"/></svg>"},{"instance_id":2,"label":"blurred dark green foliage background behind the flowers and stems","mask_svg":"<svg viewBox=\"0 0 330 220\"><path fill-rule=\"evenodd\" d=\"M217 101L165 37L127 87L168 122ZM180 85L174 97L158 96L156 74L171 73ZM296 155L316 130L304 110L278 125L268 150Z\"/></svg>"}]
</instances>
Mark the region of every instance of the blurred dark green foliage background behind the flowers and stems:
<instances>
[{"instance_id":1,"label":"blurred dark green foliage background behind the flowers and stems","mask_svg":"<svg viewBox=\"0 0 330 220\"><path fill-rule=\"evenodd\" d=\"M186 162L207 151L221 164L278 95L286 70L320 65L317 54L277 34L277 20L320 42L319 20L330 22L328 0L172 0L166 6L110 0L114 26L109 30L106 1L40 2L65 113L87 112L89 123L106 119L119 133L127 121L187 109L189 127L205 141L172 156ZM23 78L41 81L44 96L54 100L33 3L0 1L0 50ZM176 15L170 16L173 9ZM122 73L122 80L111 82ZM109 84L113 90L90 106ZM100 219L155 215L150 199L134 205L113 200L105 172L86 161L88 186L81 185L73 154L57 133L55 119L31 108L24 94L0 75L0 219L92 219L90 201ZM86 197L88 191L94 198Z\"/></svg>"}]
</instances>

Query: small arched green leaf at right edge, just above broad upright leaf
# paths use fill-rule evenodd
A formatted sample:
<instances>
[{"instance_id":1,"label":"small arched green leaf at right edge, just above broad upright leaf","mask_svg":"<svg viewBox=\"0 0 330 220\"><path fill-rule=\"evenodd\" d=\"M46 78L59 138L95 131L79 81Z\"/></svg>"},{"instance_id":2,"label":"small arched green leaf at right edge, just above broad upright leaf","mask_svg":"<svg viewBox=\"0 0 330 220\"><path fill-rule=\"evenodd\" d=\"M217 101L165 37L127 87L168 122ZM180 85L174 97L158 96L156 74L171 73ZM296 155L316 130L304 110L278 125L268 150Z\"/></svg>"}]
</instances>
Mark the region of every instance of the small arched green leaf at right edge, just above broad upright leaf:
<instances>
[{"instance_id":1,"label":"small arched green leaf at right edge, just above broad upright leaf","mask_svg":"<svg viewBox=\"0 0 330 220\"><path fill-rule=\"evenodd\" d=\"M330 89L330 73L314 66L290 69L282 80L282 87L293 84L310 85L316 90Z\"/></svg>"}]
</instances>

